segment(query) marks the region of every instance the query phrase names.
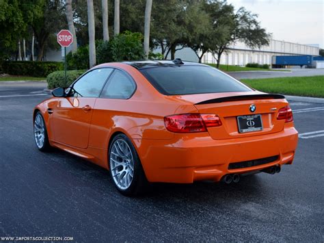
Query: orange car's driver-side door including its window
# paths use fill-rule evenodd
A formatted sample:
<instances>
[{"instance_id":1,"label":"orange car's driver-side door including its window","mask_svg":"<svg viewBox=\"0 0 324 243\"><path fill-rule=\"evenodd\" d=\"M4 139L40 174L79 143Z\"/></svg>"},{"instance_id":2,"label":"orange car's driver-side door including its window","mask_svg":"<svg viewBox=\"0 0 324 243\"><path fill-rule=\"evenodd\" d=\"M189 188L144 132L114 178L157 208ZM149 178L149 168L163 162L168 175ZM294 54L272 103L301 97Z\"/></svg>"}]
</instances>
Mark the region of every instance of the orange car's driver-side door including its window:
<instances>
[{"instance_id":1,"label":"orange car's driver-side door including its window","mask_svg":"<svg viewBox=\"0 0 324 243\"><path fill-rule=\"evenodd\" d=\"M113 68L98 68L86 73L71 86L68 97L59 99L53 110L55 141L86 149L96 98Z\"/></svg>"}]
</instances>

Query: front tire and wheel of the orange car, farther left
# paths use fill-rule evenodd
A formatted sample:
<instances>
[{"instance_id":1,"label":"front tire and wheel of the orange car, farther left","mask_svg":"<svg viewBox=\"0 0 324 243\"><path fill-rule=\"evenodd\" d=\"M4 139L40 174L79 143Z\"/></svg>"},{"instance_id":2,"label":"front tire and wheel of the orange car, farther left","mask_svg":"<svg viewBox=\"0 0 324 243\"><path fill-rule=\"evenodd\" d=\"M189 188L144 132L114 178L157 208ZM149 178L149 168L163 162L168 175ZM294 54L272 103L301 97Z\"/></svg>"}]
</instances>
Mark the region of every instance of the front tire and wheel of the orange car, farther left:
<instances>
[{"instance_id":1,"label":"front tire and wheel of the orange car, farther left","mask_svg":"<svg viewBox=\"0 0 324 243\"><path fill-rule=\"evenodd\" d=\"M46 152L51 150L44 118L40 112L37 112L33 119L33 138L40 151Z\"/></svg>"}]
</instances>

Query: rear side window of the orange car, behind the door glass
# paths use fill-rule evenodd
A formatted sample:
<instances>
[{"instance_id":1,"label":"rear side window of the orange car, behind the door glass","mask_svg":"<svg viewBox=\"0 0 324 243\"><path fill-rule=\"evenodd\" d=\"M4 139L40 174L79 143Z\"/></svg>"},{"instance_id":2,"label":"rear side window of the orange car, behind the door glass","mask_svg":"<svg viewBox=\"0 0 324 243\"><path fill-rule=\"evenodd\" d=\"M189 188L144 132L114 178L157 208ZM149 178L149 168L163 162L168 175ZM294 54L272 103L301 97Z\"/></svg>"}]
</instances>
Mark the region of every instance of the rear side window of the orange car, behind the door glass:
<instances>
[{"instance_id":1,"label":"rear side window of the orange car, behind the door glass","mask_svg":"<svg viewBox=\"0 0 324 243\"><path fill-rule=\"evenodd\" d=\"M134 81L126 73L116 69L103 89L101 97L109 99L129 99L134 90Z\"/></svg>"}]
</instances>

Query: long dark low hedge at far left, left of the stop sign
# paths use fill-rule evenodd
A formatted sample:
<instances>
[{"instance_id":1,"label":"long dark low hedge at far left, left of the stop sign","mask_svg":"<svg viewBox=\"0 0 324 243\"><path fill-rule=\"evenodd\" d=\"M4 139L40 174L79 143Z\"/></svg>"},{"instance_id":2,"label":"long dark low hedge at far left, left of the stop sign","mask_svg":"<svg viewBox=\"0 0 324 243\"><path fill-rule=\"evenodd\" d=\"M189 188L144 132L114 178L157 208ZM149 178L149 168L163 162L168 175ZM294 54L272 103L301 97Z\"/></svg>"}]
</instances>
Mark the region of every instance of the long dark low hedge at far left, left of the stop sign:
<instances>
[{"instance_id":1,"label":"long dark low hedge at far left, left of the stop sign","mask_svg":"<svg viewBox=\"0 0 324 243\"><path fill-rule=\"evenodd\" d=\"M63 70L63 62L4 61L2 72L10 75L46 77L50 73Z\"/></svg>"}]
</instances>

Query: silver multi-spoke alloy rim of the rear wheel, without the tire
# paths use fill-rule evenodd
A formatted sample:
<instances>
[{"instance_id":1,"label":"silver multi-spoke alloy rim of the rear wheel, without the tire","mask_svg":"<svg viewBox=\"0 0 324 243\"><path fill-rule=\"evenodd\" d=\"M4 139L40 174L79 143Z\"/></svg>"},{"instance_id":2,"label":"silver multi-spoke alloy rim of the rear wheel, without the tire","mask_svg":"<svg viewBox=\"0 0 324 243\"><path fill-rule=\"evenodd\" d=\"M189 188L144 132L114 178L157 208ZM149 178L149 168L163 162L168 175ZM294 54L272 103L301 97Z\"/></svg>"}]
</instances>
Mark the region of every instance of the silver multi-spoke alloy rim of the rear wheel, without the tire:
<instances>
[{"instance_id":1,"label":"silver multi-spoke alloy rim of the rear wheel, without the tire","mask_svg":"<svg viewBox=\"0 0 324 243\"><path fill-rule=\"evenodd\" d=\"M134 176L134 159L125 140L119 138L111 144L109 163L116 186L121 190L129 188Z\"/></svg>"}]
</instances>

